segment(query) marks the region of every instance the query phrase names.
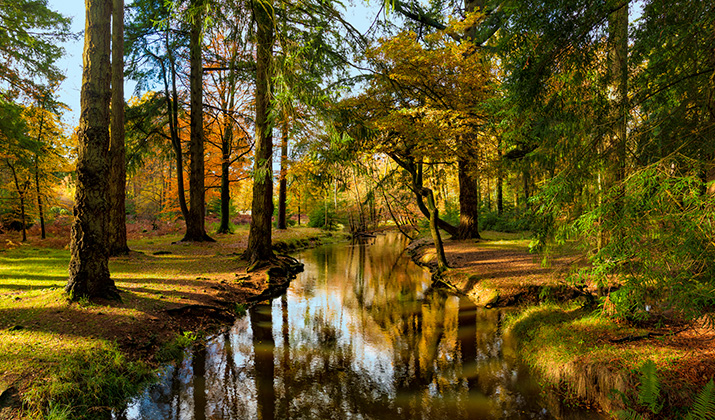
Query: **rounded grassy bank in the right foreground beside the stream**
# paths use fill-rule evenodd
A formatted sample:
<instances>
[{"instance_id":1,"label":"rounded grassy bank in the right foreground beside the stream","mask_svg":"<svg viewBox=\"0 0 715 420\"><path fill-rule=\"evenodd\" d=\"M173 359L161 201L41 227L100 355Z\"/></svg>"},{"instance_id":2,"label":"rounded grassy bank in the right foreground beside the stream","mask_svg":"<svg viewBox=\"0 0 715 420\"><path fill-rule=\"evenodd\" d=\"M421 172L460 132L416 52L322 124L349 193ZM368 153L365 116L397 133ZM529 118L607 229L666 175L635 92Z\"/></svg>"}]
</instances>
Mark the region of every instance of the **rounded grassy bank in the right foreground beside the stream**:
<instances>
[{"instance_id":1,"label":"rounded grassy bank in the right foreground beside the stream","mask_svg":"<svg viewBox=\"0 0 715 420\"><path fill-rule=\"evenodd\" d=\"M715 372L715 336L694 326L634 327L576 304L544 304L525 308L505 327L548 386L613 416L681 418ZM646 390L653 383L657 394Z\"/></svg>"}]
</instances>

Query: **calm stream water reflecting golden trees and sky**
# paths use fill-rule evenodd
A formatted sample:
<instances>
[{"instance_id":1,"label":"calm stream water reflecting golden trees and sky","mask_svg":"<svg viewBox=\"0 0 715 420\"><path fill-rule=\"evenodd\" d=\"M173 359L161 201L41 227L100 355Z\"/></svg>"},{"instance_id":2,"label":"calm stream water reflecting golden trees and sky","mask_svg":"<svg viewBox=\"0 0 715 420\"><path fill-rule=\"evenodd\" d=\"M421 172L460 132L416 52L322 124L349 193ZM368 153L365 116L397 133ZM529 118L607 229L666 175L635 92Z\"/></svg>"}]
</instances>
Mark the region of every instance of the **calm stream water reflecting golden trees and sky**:
<instances>
[{"instance_id":1,"label":"calm stream water reflecting golden trees and sky","mask_svg":"<svg viewBox=\"0 0 715 420\"><path fill-rule=\"evenodd\" d=\"M430 288L396 234L296 257L305 271L166 369L119 420L600 419L541 392L504 312Z\"/></svg>"}]
</instances>

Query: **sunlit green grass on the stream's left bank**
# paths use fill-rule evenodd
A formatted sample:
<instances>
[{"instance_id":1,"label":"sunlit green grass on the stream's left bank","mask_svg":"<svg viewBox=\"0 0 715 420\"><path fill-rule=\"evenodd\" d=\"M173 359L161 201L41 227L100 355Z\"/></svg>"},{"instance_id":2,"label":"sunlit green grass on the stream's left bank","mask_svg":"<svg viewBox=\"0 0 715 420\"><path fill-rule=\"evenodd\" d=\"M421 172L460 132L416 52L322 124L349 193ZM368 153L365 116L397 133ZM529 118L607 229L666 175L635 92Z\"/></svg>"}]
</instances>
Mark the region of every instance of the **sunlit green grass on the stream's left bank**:
<instances>
[{"instance_id":1,"label":"sunlit green grass on the stream's left bank","mask_svg":"<svg viewBox=\"0 0 715 420\"><path fill-rule=\"evenodd\" d=\"M235 281L236 273L245 269L238 255L247 232L221 235L218 243L174 244L181 237L129 241L133 253L110 261L112 278L122 292L122 302L110 304L68 301L63 291L67 249L20 245L0 252L0 391L19 389L25 416L54 419L97 418L100 411L138 392L151 380L151 369L133 360L135 354L123 354L114 340L133 339L132 345L140 348L164 341L157 338L164 331L142 338L147 342L113 333L140 325L153 334L152 324L145 323L168 305L190 304L206 287L206 279ZM326 238L310 228L292 228L274 237ZM333 234L327 240L338 237ZM168 253L155 255L157 251ZM167 337L156 360L180 357L195 339L191 333Z\"/></svg>"}]
</instances>

